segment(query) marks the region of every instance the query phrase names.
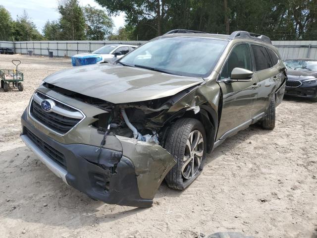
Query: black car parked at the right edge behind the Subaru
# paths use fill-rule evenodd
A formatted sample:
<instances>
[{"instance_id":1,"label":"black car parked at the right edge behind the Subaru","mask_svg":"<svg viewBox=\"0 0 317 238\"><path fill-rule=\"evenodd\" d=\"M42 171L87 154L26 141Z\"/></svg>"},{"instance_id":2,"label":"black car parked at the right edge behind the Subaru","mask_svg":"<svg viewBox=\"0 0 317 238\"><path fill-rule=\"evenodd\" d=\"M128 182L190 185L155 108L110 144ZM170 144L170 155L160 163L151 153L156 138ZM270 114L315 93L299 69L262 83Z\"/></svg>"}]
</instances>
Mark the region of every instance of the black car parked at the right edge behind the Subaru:
<instances>
[{"instance_id":1,"label":"black car parked at the right edge behind the Subaru","mask_svg":"<svg viewBox=\"0 0 317 238\"><path fill-rule=\"evenodd\" d=\"M287 81L285 95L306 97L317 102L317 60L285 60Z\"/></svg>"}]
</instances>

